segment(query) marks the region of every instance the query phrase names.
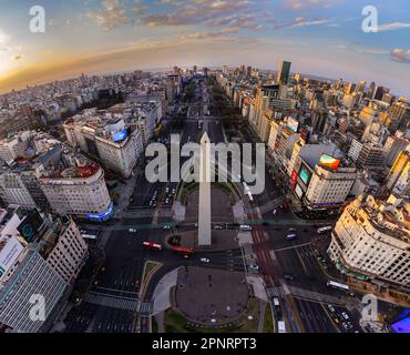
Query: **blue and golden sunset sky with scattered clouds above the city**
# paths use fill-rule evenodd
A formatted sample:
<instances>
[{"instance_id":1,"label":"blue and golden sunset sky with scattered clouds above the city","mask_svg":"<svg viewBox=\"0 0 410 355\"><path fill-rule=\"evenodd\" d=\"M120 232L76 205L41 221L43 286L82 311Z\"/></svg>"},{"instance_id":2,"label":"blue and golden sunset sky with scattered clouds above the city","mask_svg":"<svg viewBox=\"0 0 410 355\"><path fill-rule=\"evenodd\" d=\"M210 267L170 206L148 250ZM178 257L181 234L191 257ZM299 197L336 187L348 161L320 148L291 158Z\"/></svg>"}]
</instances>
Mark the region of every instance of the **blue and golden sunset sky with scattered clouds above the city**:
<instances>
[{"instance_id":1,"label":"blue and golden sunset sky with scattered clouds above the city","mask_svg":"<svg viewBox=\"0 0 410 355\"><path fill-rule=\"evenodd\" d=\"M378 32L362 31L362 9ZM0 92L81 73L178 67L367 80L410 97L408 0L0 0ZM45 32L30 31L30 8Z\"/></svg>"}]
</instances>

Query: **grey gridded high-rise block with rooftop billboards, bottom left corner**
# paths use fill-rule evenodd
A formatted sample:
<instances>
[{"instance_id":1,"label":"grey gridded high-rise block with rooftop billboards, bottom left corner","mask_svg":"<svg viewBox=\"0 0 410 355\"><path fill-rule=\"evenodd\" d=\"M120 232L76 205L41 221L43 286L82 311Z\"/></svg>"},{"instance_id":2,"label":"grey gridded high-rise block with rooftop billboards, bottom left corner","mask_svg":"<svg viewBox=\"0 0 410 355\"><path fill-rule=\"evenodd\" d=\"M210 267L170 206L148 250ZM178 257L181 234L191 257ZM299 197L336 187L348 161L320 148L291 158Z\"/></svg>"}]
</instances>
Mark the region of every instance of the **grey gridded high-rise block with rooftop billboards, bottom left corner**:
<instances>
[{"instance_id":1,"label":"grey gridded high-rise block with rooftop billboards, bottom left corner","mask_svg":"<svg viewBox=\"0 0 410 355\"><path fill-rule=\"evenodd\" d=\"M19 206L0 210L0 324L12 332L47 332L86 255L71 219ZM39 296L45 321L31 314Z\"/></svg>"}]
</instances>

